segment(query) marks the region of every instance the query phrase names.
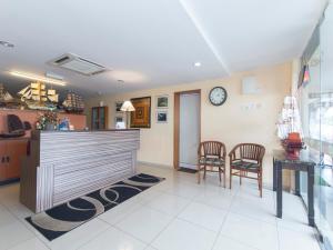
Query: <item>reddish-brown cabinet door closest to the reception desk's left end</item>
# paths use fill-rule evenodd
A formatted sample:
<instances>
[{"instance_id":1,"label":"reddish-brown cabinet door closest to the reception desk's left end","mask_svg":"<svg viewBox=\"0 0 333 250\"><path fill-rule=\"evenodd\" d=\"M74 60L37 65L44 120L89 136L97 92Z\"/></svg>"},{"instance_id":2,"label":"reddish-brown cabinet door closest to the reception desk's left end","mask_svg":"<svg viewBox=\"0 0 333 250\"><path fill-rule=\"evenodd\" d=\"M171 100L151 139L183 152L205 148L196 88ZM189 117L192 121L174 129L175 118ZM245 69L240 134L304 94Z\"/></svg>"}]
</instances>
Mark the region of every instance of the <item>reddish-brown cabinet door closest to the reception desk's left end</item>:
<instances>
[{"instance_id":1,"label":"reddish-brown cabinet door closest to the reception desk's left end","mask_svg":"<svg viewBox=\"0 0 333 250\"><path fill-rule=\"evenodd\" d=\"M7 161L6 178L13 179L20 178L21 162L27 156L27 141L12 140L7 143Z\"/></svg>"}]
</instances>

